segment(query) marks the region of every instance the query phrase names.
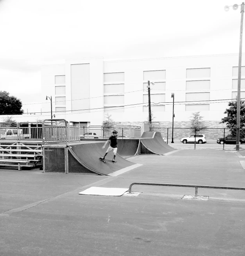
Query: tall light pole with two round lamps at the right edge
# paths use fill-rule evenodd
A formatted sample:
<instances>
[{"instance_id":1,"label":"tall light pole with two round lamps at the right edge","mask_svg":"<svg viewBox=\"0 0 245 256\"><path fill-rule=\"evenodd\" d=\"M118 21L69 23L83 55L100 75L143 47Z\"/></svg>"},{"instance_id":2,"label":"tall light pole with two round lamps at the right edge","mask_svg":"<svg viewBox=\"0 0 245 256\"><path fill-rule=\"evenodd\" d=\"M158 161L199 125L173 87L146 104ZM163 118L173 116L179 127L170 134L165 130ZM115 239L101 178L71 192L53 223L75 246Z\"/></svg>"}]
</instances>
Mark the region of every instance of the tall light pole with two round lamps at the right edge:
<instances>
[{"instance_id":1,"label":"tall light pole with two round lamps at the right edge","mask_svg":"<svg viewBox=\"0 0 245 256\"><path fill-rule=\"evenodd\" d=\"M241 111L241 48L242 48L242 32L243 32L243 14L244 2L241 4L241 24L240 24L240 43L239 43L239 60L238 60L238 83L237 83L237 109L236 109L236 150L240 148L240 111ZM225 5L225 11L229 11L230 6ZM238 4L232 6L233 10L238 9Z\"/></svg>"}]
</instances>

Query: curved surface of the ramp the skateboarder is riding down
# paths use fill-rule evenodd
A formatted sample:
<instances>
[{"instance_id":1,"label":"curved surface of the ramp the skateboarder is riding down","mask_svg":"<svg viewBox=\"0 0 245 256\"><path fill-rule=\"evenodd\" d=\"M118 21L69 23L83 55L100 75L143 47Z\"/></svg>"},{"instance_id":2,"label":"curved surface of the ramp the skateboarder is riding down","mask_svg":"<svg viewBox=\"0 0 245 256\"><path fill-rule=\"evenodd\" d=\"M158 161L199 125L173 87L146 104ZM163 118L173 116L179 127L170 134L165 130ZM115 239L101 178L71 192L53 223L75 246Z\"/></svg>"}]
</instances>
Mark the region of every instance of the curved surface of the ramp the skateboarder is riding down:
<instances>
[{"instance_id":1,"label":"curved surface of the ramp the skateboarder is riding down","mask_svg":"<svg viewBox=\"0 0 245 256\"><path fill-rule=\"evenodd\" d=\"M113 164L112 151L107 154L106 163L102 162L98 158L106 153L107 147L102 149L103 145L104 142L77 143L69 145L69 151L82 166L97 174L113 176L113 172L123 173L139 166L120 155L116 156L116 162Z\"/></svg>"}]
</instances>

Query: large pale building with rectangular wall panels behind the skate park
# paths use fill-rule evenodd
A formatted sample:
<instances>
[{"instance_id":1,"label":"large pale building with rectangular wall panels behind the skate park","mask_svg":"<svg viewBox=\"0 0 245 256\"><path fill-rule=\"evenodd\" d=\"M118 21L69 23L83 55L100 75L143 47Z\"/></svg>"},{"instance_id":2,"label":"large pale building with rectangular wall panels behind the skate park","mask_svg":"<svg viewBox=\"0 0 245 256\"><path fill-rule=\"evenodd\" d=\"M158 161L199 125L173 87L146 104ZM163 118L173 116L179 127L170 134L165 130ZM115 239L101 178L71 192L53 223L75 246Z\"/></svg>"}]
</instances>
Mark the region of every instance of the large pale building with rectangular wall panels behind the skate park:
<instances>
[{"instance_id":1,"label":"large pale building with rectangular wall panels behind the skate park","mask_svg":"<svg viewBox=\"0 0 245 256\"><path fill-rule=\"evenodd\" d=\"M245 67L241 71L241 98L245 98ZM116 122L146 121L148 80L155 83L150 84L154 121L172 121L174 93L175 121L188 121L200 111L204 121L220 122L227 102L236 98L238 54L82 58L41 69L43 99L52 96L55 118L82 125L101 125L106 113ZM43 104L42 111L50 112L50 104Z\"/></svg>"}]
</instances>

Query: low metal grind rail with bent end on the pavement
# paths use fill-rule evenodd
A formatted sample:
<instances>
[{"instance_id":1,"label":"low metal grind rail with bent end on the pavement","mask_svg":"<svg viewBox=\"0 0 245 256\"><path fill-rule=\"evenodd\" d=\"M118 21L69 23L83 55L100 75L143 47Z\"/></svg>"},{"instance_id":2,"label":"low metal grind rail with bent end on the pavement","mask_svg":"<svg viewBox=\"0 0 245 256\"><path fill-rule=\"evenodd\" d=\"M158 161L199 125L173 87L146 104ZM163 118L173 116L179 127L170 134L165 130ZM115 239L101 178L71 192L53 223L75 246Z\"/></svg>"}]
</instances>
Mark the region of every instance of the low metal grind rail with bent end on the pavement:
<instances>
[{"instance_id":1,"label":"low metal grind rail with bent end on the pavement","mask_svg":"<svg viewBox=\"0 0 245 256\"><path fill-rule=\"evenodd\" d=\"M129 186L129 194L132 194L132 186L133 185L153 185L153 186L169 186L169 187L195 187L195 196L197 196L197 188L245 190L244 187L216 187L216 186L202 186L202 185L181 185L181 184L162 184L162 183L140 183L140 182L134 182L134 183L132 183Z\"/></svg>"}]
</instances>

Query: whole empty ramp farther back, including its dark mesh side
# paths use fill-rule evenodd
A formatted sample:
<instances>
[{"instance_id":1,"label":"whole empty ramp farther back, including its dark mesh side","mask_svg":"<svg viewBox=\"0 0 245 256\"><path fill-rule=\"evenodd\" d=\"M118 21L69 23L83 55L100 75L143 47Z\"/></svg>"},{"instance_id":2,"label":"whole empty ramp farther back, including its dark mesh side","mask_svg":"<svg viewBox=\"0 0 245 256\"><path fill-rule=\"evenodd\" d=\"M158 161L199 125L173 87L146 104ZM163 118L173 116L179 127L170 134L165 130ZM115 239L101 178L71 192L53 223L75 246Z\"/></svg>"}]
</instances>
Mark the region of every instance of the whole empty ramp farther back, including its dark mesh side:
<instances>
[{"instance_id":1,"label":"whole empty ramp farther back, including its dark mesh side","mask_svg":"<svg viewBox=\"0 0 245 256\"><path fill-rule=\"evenodd\" d=\"M140 142L141 154L165 155L176 150L163 140L160 132L144 132Z\"/></svg>"}]
</instances>

